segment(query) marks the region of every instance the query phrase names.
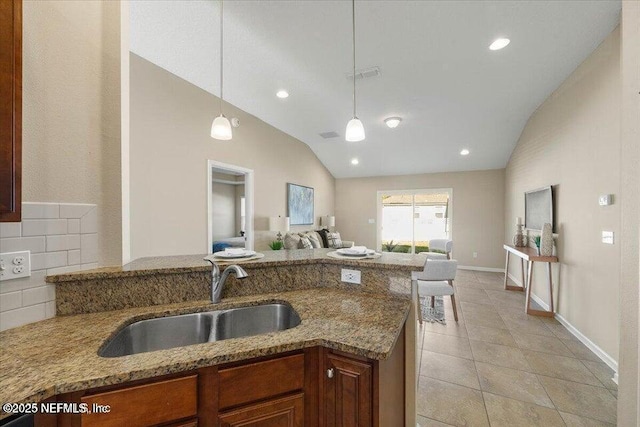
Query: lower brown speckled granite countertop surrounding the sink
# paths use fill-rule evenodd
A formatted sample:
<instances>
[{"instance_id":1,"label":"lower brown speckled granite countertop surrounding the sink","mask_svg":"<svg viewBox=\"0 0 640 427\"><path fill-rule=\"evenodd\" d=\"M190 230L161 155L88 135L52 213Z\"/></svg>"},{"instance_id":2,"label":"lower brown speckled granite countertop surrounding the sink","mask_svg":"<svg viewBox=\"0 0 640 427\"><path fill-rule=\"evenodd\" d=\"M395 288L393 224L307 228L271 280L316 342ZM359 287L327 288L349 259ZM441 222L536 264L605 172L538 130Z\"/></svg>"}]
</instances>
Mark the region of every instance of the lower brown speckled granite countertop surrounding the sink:
<instances>
[{"instance_id":1,"label":"lower brown speckled granite countertop surrounding the sink","mask_svg":"<svg viewBox=\"0 0 640 427\"><path fill-rule=\"evenodd\" d=\"M292 254L278 255L297 258ZM184 261L178 263L181 267L177 268L206 267L197 261L197 257L172 257L171 263L175 264L179 259ZM153 259L147 258L125 266L121 272L146 271L148 268L167 267L165 264L154 265ZM302 323L268 335L118 358L103 358L97 354L105 340L122 326L137 320L268 302L291 304ZM390 294L318 288L226 298L215 306L207 301L191 301L55 317L0 332L0 403L36 402L56 394L318 345L382 360L391 354L410 304L410 300ZM0 418L5 415L0 414Z\"/></svg>"}]
</instances>

